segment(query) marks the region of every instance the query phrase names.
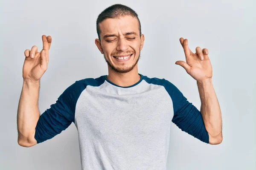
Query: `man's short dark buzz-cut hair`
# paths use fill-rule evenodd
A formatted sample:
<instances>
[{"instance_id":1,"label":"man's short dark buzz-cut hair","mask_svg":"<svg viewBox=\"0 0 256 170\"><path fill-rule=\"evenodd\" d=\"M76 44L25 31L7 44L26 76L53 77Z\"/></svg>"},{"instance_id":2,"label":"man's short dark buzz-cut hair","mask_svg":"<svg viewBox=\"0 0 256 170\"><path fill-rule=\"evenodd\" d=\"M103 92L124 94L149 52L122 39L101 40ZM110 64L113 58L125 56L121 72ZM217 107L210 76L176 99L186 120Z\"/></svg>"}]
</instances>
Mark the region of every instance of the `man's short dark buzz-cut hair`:
<instances>
[{"instance_id":1,"label":"man's short dark buzz-cut hair","mask_svg":"<svg viewBox=\"0 0 256 170\"><path fill-rule=\"evenodd\" d=\"M138 18L138 14L130 7L122 5L122 4L114 4L108 8L106 8L104 11L102 11L96 21L96 29L97 29L97 34L100 40L100 28L99 28L99 23L101 23L103 20L107 18L119 18L119 17L124 17L124 16L132 16L136 17L139 21L139 31L140 31L140 36L141 36L141 25L140 25L140 20Z\"/></svg>"}]
</instances>

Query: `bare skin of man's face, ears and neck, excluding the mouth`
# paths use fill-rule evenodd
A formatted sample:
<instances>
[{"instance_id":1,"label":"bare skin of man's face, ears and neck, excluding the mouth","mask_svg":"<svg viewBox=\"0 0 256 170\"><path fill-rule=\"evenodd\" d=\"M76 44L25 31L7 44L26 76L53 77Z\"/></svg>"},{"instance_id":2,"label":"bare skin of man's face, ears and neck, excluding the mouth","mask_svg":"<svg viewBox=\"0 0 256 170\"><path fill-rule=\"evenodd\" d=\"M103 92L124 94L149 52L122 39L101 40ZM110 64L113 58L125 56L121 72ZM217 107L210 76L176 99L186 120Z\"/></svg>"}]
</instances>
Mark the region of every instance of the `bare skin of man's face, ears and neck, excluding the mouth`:
<instances>
[{"instance_id":1,"label":"bare skin of man's face, ears and neck, excluding the mouth","mask_svg":"<svg viewBox=\"0 0 256 170\"><path fill-rule=\"evenodd\" d=\"M138 26L137 18L132 16L108 18L99 24L101 41L96 39L95 44L108 63L107 78L116 85L130 86L140 79L137 62L145 37L140 37ZM124 62L113 57L125 54L133 55Z\"/></svg>"}]
</instances>

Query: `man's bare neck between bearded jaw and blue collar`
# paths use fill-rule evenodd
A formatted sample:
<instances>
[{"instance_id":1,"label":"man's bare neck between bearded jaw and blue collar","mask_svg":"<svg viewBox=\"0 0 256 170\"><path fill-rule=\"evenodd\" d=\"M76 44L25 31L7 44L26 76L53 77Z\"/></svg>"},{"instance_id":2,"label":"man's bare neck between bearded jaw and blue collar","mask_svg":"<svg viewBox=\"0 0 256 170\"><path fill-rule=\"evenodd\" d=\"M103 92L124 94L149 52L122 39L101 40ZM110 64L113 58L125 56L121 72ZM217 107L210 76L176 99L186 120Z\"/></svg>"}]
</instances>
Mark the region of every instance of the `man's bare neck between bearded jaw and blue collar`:
<instances>
[{"instance_id":1,"label":"man's bare neck between bearded jaw and blue collar","mask_svg":"<svg viewBox=\"0 0 256 170\"><path fill-rule=\"evenodd\" d=\"M140 80L140 75L136 66L128 73L117 73L109 68L107 79L116 85L127 87L137 83Z\"/></svg>"}]
</instances>

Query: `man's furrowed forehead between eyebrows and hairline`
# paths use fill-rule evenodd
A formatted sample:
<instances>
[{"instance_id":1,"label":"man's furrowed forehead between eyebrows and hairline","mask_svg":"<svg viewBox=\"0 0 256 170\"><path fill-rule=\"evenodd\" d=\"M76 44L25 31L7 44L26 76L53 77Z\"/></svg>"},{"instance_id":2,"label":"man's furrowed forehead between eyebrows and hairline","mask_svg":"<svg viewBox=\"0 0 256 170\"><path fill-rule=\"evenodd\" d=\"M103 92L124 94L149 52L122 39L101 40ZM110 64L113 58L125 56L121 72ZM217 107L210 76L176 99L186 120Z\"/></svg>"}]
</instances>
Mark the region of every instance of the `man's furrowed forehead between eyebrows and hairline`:
<instances>
[{"instance_id":1,"label":"man's furrowed forehead between eyebrows and hairline","mask_svg":"<svg viewBox=\"0 0 256 170\"><path fill-rule=\"evenodd\" d=\"M101 36L105 34L118 34L134 31L138 35L139 21L136 17L124 16L119 18L108 18L99 24L101 30Z\"/></svg>"}]
</instances>

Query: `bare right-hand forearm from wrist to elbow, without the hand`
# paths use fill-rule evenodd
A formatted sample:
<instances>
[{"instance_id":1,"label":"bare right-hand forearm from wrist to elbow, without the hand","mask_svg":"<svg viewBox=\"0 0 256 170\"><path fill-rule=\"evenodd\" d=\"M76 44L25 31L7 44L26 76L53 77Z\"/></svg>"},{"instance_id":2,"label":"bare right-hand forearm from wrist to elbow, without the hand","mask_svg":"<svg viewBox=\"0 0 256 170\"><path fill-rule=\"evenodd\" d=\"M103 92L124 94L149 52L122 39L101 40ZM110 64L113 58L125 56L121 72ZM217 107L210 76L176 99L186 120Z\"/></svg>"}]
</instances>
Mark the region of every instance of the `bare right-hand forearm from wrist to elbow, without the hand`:
<instances>
[{"instance_id":1,"label":"bare right-hand forearm from wrist to elbow, without the hand","mask_svg":"<svg viewBox=\"0 0 256 170\"><path fill-rule=\"evenodd\" d=\"M202 114L206 130L211 137L221 136L221 108L212 85L212 79L197 82L197 85L201 99L200 112Z\"/></svg>"}]
</instances>

